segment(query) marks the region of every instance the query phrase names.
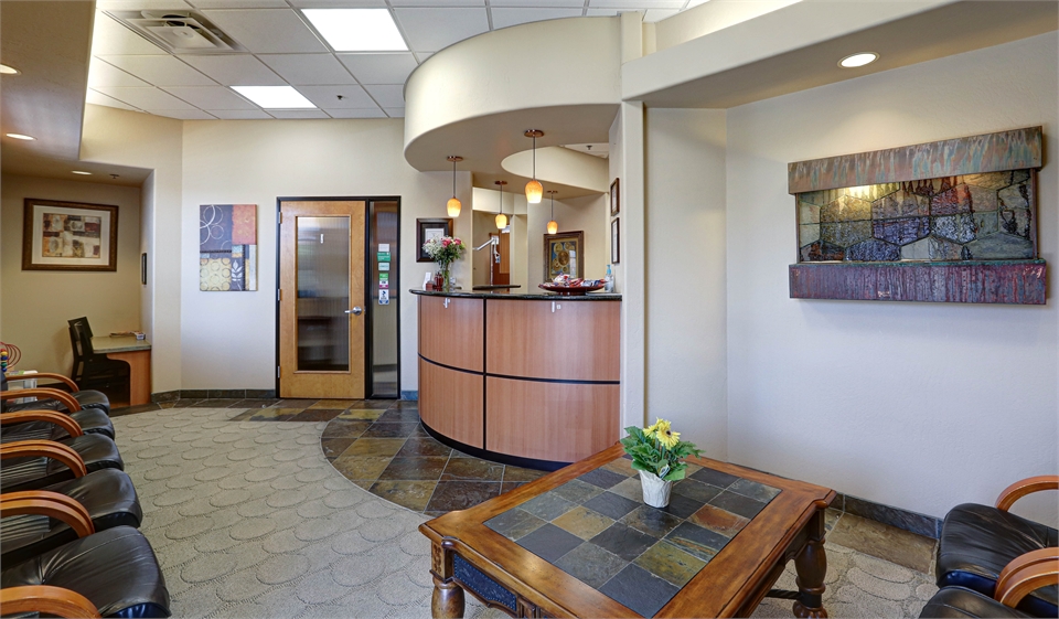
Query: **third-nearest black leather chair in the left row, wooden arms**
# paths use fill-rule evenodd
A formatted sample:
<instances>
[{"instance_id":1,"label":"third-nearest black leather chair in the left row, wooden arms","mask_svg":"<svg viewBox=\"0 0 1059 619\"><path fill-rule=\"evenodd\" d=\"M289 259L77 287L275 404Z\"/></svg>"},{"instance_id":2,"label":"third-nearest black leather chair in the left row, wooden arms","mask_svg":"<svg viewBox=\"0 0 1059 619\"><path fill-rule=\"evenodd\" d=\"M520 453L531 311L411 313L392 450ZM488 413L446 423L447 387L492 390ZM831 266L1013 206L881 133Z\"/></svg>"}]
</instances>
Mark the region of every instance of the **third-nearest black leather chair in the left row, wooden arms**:
<instances>
[{"instance_id":1,"label":"third-nearest black leather chair in the left row, wooden arms","mask_svg":"<svg viewBox=\"0 0 1059 619\"><path fill-rule=\"evenodd\" d=\"M114 441L93 434L0 444L0 492L40 490L101 469L125 469Z\"/></svg>"}]
</instances>

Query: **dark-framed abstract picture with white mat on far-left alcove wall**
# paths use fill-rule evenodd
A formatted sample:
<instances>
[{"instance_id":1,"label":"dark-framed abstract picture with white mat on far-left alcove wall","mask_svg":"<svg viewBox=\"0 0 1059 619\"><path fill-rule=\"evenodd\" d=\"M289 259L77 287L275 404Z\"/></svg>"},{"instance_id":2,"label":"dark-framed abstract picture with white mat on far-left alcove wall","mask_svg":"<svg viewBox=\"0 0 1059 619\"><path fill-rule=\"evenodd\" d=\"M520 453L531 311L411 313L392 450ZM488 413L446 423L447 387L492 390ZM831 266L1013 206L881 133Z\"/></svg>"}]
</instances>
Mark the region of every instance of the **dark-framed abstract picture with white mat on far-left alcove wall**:
<instances>
[{"instance_id":1,"label":"dark-framed abstract picture with white mat on far-left alcove wall","mask_svg":"<svg viewBox=\"0 0 1059 619\"><path fill-rule=\"evenodd\" d=\"M118 207L26 198L22 270L118 270Z\"/></svg>"}]
</instances>

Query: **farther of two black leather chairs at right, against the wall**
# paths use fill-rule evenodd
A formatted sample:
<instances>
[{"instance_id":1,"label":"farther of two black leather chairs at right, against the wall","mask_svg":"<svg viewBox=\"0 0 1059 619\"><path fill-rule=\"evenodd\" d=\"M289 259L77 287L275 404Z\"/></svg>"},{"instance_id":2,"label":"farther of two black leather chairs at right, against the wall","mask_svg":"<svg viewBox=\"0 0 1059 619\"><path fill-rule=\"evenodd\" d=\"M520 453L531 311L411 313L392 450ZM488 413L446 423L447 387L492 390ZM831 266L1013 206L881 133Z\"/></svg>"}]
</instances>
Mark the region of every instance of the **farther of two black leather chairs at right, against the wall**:
<instances>
[{"instance_id":1,"label":"farther of two black leather chairs at right, against the wall","mask_svg":"<svg viewBox=\"0 0 1059 619\"><path fill-rule=\"evenodd\" d=\"M938 542L935 575L939 587L965 587L993 597L997 578L1013 561L1033 551L1059 546L1059 532L1010 512L1021 497L1059 489L1059 476L1016 482L1004 490L995 506L964 503L945 515ZM1059 615L1059 587L1046 586L1027 595L1018 609L1035 617Z\"/></svg>"}]
</instances>

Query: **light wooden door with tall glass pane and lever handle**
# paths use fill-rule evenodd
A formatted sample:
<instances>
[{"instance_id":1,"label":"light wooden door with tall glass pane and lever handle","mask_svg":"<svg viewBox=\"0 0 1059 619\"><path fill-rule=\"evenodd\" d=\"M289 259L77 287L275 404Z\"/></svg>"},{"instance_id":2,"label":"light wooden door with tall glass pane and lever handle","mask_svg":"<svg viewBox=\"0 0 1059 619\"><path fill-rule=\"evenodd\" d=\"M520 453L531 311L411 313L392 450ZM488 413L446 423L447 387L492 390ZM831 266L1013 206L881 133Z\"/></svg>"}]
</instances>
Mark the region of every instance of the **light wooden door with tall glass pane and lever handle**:
<instances>
[{"instance_id":1,"label":"light wooden door with tall glass pane and lever handle","mask_svg":"<svg viewBox=\"0 0 1059 619\"><path fill-rule=\"evenodd\" d=\"M280 203L279 396L364 397L366 203Z\"/></svg>"}]
</instances>

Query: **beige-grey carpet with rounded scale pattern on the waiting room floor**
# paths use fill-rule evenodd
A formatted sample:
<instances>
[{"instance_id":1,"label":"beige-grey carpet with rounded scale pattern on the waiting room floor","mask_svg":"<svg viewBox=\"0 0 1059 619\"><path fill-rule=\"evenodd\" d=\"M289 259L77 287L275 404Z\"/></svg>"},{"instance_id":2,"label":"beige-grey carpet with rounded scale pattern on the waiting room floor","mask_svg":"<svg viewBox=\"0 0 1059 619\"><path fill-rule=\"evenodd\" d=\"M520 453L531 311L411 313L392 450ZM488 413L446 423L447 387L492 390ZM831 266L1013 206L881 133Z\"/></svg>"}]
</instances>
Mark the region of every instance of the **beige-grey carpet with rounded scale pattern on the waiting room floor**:
<instances>
[{"instance_id":1,"label":"beige-grey carpet with rounded scale pattern on the waiting room floor","mask_svg":"<svg viewBox=\"0 0 1059 619\"><path fill-rule=\"evenodd\" d=\"M232 420L238 408L114 419L174 617L429 617L427 519L324 458L325 421ZM832 617L917 617L926 574L828 544ZM789 570L779 585L793 588ZM756 617L790 617L766 600ZM468 596L468 617L503 617Z\"/></svg>"}]
</instances>

